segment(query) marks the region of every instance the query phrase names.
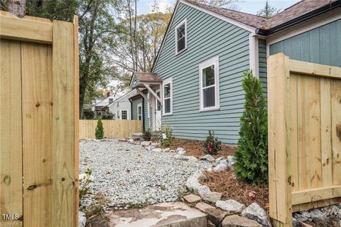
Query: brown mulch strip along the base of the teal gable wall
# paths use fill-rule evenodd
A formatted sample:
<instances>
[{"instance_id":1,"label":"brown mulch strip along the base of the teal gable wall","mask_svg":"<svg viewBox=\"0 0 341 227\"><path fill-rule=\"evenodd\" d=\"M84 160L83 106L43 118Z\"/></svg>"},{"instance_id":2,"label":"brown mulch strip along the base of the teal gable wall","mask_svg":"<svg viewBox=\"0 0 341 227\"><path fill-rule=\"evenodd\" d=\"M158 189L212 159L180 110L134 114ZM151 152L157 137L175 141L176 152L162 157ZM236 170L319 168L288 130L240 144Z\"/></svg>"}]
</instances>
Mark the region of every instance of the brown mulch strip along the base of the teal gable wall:
<instances>
[{"instance_id":1,"label":"brown mulch strip along the base of the teal gable wall","mask_svg":"<svg viewBox=\"0 0 341 227\"><path fill-rule=\"evenodd\" d=\"M158 139L154 139L154 142L157 142ZM159 146L160 148L166 148L163 146ZM177 149L178 147L183 147L186 150L186 156L194 156L194 157L202 157L205 155L205 149L202 147L200 141L198 140L190 140L190 139L173 139L171 149ZM215 159L219 157L227 157L229 155L233 155L236 147L232 147L226 144L222 144L222 148L218 154L213 155Z\"/></svg>"}]
</instances>

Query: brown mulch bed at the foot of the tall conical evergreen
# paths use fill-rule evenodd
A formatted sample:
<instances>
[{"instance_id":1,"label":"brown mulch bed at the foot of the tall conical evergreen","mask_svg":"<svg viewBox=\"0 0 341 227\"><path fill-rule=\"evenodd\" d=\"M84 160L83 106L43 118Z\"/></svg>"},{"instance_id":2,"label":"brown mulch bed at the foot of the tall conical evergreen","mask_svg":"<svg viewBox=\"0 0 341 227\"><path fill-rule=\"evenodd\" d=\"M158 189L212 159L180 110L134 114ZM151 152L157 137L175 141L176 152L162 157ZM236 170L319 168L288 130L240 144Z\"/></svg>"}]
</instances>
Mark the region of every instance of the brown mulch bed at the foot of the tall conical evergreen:
<instances>
[{"instance_id":1,"label":"brown mulch bed at the foot of the tall conical evergreen","mask_svg":"<svg viewBox=\"0 0 341 227\"><path fill-rule=\"evenodd\" d=\"M234 199L249 206L256 202L269 211L269 189L267 186L252 186L237 179L233 169L227 171L210 172L204 174L208 180L201 181L210 187L211 191L222 193L223 199Z\"/></svg>"}]
</instances>

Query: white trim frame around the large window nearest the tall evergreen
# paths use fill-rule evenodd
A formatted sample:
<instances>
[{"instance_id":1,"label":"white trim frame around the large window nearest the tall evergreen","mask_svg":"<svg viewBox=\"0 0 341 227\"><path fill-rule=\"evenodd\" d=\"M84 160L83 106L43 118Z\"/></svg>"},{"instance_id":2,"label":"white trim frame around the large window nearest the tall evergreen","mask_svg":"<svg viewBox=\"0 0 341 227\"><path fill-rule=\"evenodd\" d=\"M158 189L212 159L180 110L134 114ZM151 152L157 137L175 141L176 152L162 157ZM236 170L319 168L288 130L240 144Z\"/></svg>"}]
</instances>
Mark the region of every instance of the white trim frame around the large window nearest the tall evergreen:
<instances>
[{"instance_id":1,"label":"white trim frame around the large window nearest the tall evergreen","mask_svg":"<svg viewBox=\"0 0 341 227\"><path fill-rule=\"evenodd\" d=\"M204 102L202 100L202 70L204 68L209 67L210 65L215 65L215 106L214 107L203 107ZM219 57L212 58L210 60L205 61L199 65L199 86L200 86L200 112L201 111L210 111L210 110L219 110L220 109L220 83L219 83ZM207 87L205 87L207 88Z\"/></svg>"}]
</instances>

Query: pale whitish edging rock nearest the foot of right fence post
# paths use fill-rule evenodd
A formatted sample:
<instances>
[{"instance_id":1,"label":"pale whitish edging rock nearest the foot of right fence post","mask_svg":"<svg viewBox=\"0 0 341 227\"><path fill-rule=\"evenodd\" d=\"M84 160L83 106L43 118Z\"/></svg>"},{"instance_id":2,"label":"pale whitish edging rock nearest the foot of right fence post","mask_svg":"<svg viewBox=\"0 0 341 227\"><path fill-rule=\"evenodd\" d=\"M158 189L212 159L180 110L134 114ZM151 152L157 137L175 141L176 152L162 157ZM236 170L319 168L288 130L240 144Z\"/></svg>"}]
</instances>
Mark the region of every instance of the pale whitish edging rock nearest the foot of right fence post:
<instances>
[{"instance_id":1,"label":"pale whitish edging rock nearest the foot of right fence post","mask_svg":"<svg viewBox=\"0 0 341 227\"><path fill-rule=\"evenodd\" d=\"M262 226L270 226L269 218L266 214L264 208L261 208L256 203L250 204L247 208L242 211L242 216L244 218L249 218L251 220L257 221Z\"/></svg>"}]
</instances>

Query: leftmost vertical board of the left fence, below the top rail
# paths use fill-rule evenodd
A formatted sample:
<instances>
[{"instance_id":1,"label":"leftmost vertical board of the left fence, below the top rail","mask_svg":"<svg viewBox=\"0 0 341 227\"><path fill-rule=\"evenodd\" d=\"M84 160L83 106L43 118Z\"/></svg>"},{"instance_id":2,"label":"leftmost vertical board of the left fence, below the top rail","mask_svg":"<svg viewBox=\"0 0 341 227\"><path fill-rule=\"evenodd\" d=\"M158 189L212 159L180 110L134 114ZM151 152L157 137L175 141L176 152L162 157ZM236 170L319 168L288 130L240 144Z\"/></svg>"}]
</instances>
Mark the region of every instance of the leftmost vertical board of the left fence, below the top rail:
<instances>
[{"instance_id":1,"label":"leftmost vertical board of the left fence, below the top rail","mask_svg":"<svg viewBox=\"0 0 341 227\"><path fill-rule=\"evenodd\" d=\"M22 216L20 42L1 38L0 54L0 211ZM7 222L0 218L0 225Z\"/></svg>"}]
</instances>

